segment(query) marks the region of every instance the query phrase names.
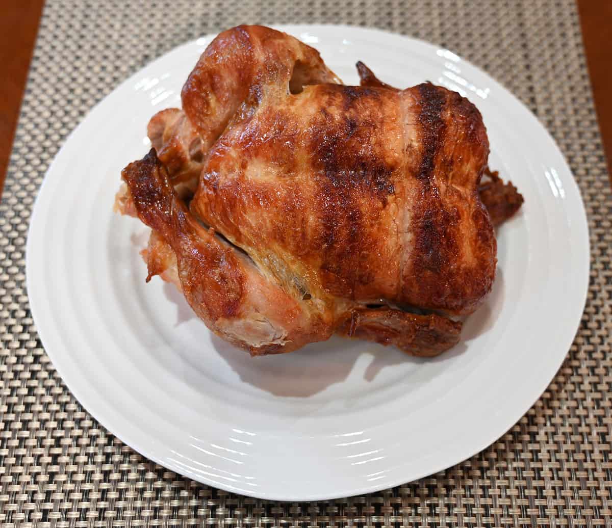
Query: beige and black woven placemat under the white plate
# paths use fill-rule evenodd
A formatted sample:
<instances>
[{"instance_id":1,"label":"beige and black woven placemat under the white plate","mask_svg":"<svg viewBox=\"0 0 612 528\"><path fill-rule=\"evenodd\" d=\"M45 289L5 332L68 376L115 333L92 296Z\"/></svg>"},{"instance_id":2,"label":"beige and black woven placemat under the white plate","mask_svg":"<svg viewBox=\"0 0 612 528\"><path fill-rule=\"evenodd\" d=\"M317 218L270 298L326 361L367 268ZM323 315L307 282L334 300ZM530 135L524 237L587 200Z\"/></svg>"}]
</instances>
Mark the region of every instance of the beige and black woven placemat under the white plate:
<instances>
[{"instance_id":1,"label":"beige and black woven placemat under the white plate","mask_svg":"<svg viewBox=\"0 0 612 528\"><path fill-rule=\"evenodd\" d=\"M518 95L572 166L592 248L578 336L542 398L468 461L364 497L237 496L122 444L45 355L28 307L24 245L47 166L128 75L185 40L242 22L373 26L446 46ZM0 526L611 526L610 198L572 0L48 2L0 205Z\"/></svg>"}]
</instances>

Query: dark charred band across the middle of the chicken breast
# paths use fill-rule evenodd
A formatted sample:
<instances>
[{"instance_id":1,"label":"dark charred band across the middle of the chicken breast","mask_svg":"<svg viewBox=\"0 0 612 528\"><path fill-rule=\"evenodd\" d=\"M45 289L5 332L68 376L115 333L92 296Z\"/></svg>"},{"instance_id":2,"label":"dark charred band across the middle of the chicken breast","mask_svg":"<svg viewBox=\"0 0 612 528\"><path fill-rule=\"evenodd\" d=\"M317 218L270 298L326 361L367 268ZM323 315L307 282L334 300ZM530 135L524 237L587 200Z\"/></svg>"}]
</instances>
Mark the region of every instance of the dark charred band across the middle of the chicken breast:
<instances>
[{"instance_id":1,"label":"dark charred band across the middle of the chicken breast","mask_svg":"<svg viewBox=\"0 0 612 528\"><path fill-rule=\"evenodd\" d=\"M330 293L352 299L375 280L363 245L370 221L395 194L398 164L384 157L376 90L329 85L319 92L326 104L310 121L308 150L318 187L321 280Z\"/></svg>"}]
</instances>

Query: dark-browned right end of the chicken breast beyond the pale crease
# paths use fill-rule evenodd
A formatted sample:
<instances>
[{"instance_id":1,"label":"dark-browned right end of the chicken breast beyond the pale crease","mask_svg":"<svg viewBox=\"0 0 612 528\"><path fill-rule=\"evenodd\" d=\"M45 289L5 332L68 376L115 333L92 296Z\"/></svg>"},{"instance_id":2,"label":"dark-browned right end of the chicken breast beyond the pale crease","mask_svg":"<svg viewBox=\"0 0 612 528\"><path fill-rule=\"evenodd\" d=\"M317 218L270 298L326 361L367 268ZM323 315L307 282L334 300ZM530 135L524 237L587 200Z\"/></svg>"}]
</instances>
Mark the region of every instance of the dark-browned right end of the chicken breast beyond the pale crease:
<instances>
[{"instance_id":1,"label":"dark-browned right end of the chicken breast beyond the pale crease","mask_svg":"<svg viewBox=\"0 0 612 528\"><path fill-rule=\"evenodd\" d=\"M486 132L480 113L459 94L430 83L415 91L422 149L403 296L409 302L420 300L425 308L469 313L490 291L494 278L494 234L477 196L488 155ZM455 151L457 137L463 139L460 151ZM474 168L466 170L465 162L471 159ZM466 205L468 197L472 206ZM469 253L466 236L471 237Z\"/></svg>"}]
</instances>

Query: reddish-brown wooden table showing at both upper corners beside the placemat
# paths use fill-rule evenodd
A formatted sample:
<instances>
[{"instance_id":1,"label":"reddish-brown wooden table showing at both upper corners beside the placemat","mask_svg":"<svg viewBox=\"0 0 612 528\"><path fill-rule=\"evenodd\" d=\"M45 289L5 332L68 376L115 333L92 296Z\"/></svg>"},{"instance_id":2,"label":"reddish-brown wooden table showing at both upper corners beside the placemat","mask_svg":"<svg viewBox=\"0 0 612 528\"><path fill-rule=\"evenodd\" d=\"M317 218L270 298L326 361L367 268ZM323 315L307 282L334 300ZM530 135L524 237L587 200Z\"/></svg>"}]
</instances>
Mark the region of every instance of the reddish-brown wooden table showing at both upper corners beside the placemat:
<instances>
[{"instance_id":1,"label":"reddish-brown wooden table showing at both upper corners beside the placemat","mask_svg":"<svg viewBox=\"0 0 612 528\"><path fill-rule=\"evenodd\" d=\"M4 75L0 84L0 191L13 144L21 96L34 48L43 0L3 2L0 16L0 64ZM597 117L603 146L612 163L612 0L578 0ZM612 178L612 176L611 176ZM612 179L611 179L612 181Z\"/></svg>"}]
</instances>

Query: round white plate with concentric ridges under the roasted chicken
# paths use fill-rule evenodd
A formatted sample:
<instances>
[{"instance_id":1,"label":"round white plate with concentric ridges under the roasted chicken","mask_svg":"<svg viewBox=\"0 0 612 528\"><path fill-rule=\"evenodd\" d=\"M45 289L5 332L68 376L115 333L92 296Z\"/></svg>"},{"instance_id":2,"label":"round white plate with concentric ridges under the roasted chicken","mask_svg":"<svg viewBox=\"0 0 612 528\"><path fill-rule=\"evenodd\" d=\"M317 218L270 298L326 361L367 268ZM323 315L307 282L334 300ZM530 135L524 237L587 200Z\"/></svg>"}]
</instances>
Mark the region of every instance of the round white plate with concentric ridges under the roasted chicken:
<instances>
[{"instance_id":1,"label":"round white plate with concentric ridges under the roasted chicken","mask_svg":"<svg viewBox=\"0 0 612 528\"><path fill-rule=\"evenodd\" d=\"M203 483L255 497L362 494L452 466L487 447L547 387L586 297L589 246L577 185L553 140L476 67L418 40L338 26L288 26L345 83L362 60L382 80L466 94L490 165L525 197L498 234L499 269L461 344L420 360L334 338L251 359L195 318L146 270L147 229L111 212L119 173L148 148L156 111L211 37L136 73L67 139L40 189L28 239L32 314L45 350L83 406L135 450Z\"/></svg>"}]
</instances>

